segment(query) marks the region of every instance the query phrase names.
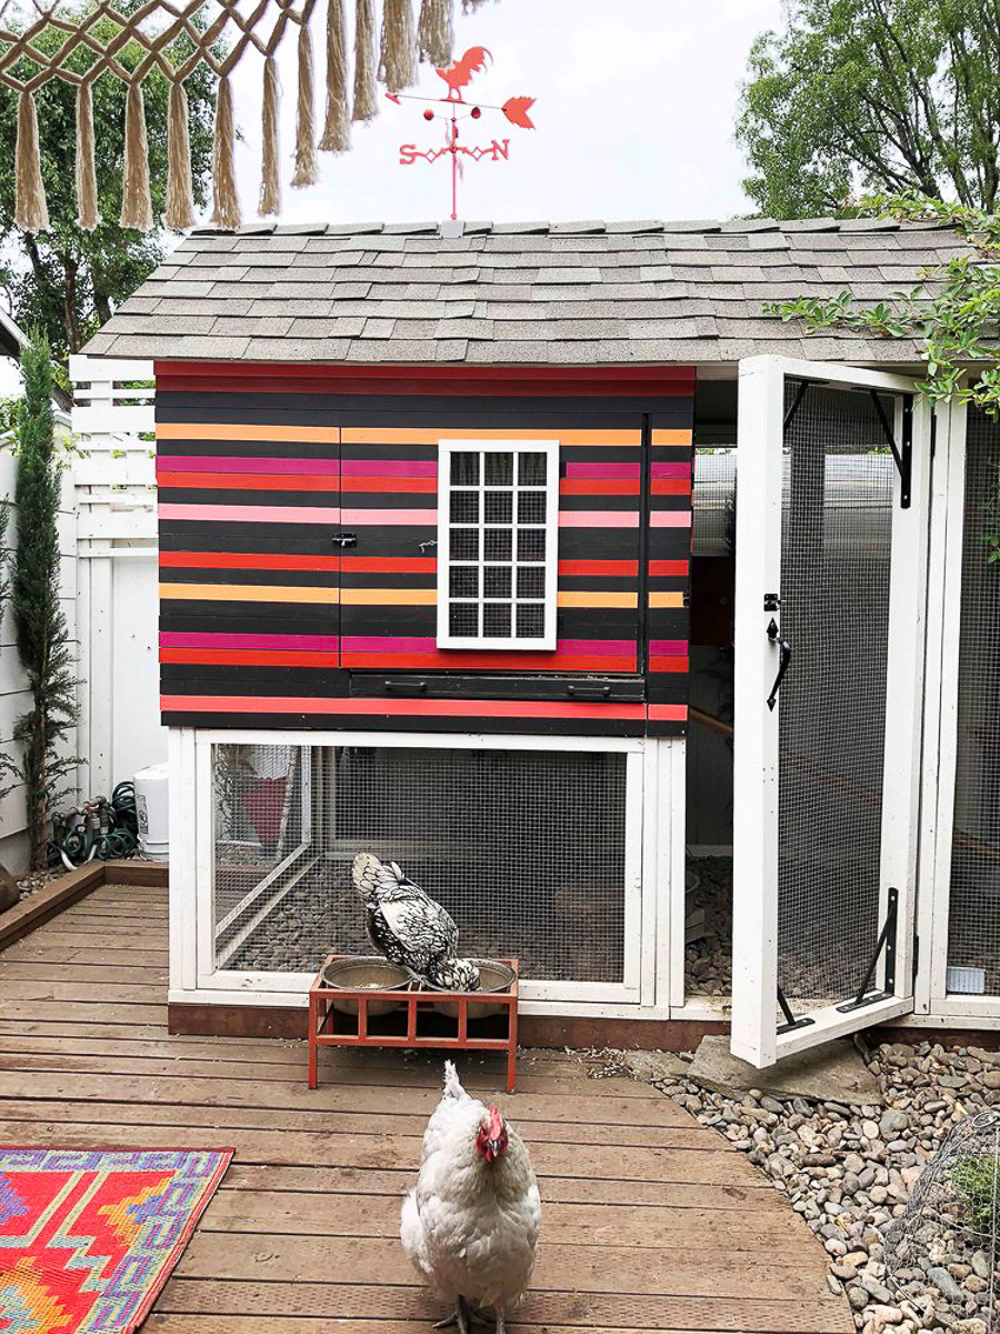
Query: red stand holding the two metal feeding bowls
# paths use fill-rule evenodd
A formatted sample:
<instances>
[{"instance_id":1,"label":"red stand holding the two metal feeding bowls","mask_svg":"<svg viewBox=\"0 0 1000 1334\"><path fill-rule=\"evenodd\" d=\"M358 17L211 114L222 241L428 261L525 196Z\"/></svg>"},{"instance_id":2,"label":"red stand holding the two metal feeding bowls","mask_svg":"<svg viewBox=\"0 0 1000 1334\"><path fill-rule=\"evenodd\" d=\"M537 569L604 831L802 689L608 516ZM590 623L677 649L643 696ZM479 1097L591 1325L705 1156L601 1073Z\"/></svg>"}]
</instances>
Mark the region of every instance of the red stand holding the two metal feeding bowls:
<instances>
[{"instance_id":1,"label":"red stand holding the two metal feeding bowls","mask_svg":"<svg viewBox=\"0 0 1000 1334\"><path fill-rule=\"evenodd\" d=\"M404 1047L433 1051L505 1051L507 1091L513 1093L517 1063L517 983L520 971L517 959L501 959L513 972L509 991L393 991L361 987L329 987L323 980L328 964L348 958L331 954L316 974L309 987L309 1087L319 1081L317 1057L320 1047ZM335 1010L333 1000L356 1000L357 1014L349 1015ZM405 1022L400 1010L380 1017L375 1030L369 1023L368 1006L373 1000L392 1000L405 1009ZM457 1005L456 1031L433 1033L431 1019L439 1025L441 1003ZM469 1035L469 1006L473 1007L472 1022L476 1023L476 1007L484 1005L503 1006L507 1031L501 1037ZM500 1019L504 1017L500 1015Z\"/></svg>"}]
</instances>

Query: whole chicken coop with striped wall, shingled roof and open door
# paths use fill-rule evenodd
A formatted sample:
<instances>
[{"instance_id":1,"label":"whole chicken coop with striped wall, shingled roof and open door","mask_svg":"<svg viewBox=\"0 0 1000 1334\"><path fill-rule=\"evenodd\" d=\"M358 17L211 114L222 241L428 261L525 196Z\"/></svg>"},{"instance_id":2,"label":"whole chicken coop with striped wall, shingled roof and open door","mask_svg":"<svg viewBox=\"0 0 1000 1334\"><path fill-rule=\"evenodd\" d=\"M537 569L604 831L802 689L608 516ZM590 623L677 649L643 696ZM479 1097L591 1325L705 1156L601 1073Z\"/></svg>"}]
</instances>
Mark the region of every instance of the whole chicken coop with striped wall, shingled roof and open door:
<instances>
[{"instance_id":1,"label":"whole chicken coop with striped wall, shingled roof and open door","mask_svg":"<svg viewBox=\"0 0 1000 1334\"><path fill-rule=\"evenodd\" d=\"M304 1031L369 851L529 1043L996 1026L1000 430L763 312L961 249L192 232L87 348L156 370L171 1025Z\"/></svg>"}]
</instances>

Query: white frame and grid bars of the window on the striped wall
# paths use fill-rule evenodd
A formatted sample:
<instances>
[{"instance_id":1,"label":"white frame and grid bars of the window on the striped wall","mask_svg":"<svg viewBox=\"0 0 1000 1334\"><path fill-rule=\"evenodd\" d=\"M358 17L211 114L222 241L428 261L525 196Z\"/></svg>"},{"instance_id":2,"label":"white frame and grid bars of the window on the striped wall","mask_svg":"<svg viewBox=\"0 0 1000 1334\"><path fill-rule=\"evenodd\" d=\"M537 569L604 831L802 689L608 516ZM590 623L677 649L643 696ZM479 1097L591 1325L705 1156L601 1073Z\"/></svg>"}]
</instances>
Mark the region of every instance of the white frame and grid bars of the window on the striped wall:
<instances>
[{"instance_id":1,"label":"white frame and grid bars of the window on the striped wall","mask_svg":"<svg viewBox=\"0 0 1000 1334\"><path fill-rule=\"evenodd\" d=\"M545 534L545 591L541 606L545 614L545 632L544 635L537 635L535 638L517 636L515 634L509 636L496 636L496 635L453 635L449 630L449 608L451 608L451 496L452 496L452 455L453 454L544 454L545 455L545 486L537 490L544 490L545 492L545 522L544 524L531 524L533 528L539 528ZM485 487L485 470L480 470L479 486L475 488L480 494L480 500L484 498ZM472 487L456 487L459 491L469 491ZM500 488L507 490L507 488ZM516 498L517 486L516 475L512 483L512 494ZM455 527L472 527L472 524L455 524ZM485 531L485 518L483 507L480 506L480 520L476 524L480 532ZM507 524L496 524L495 527L507 528ZM516 570L517 570L517 518L512 516L509 531L511 540L513 543L513 550L511 552L511 628L516 628L516 606L517 606L517 590L516 590ZM557 570L559 570L559 440L503 440L503 439L489 439L489 440L439 440L437 442L437 647L439 648L468 648L472 651L487 648L487 650L512 650L515 652L520 651L535 651L535 652L548 652L556 647L556 602L557 602ZM456 562L459 566L471 566L473 562ZM507 564L504 560L484 560L483 546L480 544L479 560L475 562L479 570L479 595L475 602L483 607L487 599L483 595L483 568L485 564ZM456 599L461 600L461 599ZM472 602L473 599L467 599ZM489 600L505 600L505 599L489 599Z\"/></svg>"}]
</instances>

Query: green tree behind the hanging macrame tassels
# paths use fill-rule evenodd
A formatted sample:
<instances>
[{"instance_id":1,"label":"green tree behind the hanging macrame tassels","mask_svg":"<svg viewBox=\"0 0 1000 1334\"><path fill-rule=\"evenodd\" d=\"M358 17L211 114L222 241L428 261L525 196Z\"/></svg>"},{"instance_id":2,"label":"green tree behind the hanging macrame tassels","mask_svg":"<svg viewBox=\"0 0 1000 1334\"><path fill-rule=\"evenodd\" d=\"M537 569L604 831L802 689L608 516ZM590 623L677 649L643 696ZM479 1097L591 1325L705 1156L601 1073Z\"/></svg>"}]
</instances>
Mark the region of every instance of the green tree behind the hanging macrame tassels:
<instances>
[{"instance_id":1,"label":"green tree behind the hanging macrame tassels","mask_svg":"<svg viewBox=\"0 0 1000 1334\"><path fill-rule=\"evenodd\" d=\"M119 8L131 13L137 0ZM87 12L81 7L80 12ZM120 31L111 19L103 20L104 37ZM43 49L55 49L64 40L47 28L32 39ZM133 69L141 57L136 43L117 52L120 63ZM95 56L80 47L67 64L83 72ZM23 60L20 73L37 67ZM215 81L204 65L185 80L189 104L191 163L195 200L208 197L212 163L212 121ZM167 103L169 88L161 75L143 83L149 141L149 184L153 215L161 216L167 196ZM17 99L0 99L0 241L11 255L0 265L0 284L7 289L13 317L21 328L40 328L59 362L79 351L87 339L111 317L113 308L129 296L164 256L163 233L143 236L119 227L121 211L121 163L124 155L125 85L103 75L93 85L93 120L97 137L97 203L103 221L92 231L76 225L76 89L53 79L36 92L41 175L52 229L37 236L23 232L13 221L15 141Z\"/></svg>"}]
</instances>

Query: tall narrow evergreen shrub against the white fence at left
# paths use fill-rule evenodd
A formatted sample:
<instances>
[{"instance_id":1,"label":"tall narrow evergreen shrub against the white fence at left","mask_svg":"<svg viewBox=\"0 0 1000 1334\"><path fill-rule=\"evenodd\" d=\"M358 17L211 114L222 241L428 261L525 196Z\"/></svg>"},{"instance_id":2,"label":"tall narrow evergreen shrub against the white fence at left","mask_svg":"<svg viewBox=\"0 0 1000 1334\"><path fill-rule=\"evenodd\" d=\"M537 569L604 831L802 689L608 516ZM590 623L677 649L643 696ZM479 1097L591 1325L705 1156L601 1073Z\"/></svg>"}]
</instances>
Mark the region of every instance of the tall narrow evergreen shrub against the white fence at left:
<instances>
[{"instance_id":1,"label":"tall narrow evergreen shrub against the white fence at left","mask_svg":"<svg viewBox=\"0 0 1000 1334\"><path fill-rule=\"evenodd\" d=\"M51 812L65 795L65 780L77 763L65 754L76 722L76 672L59 602L60 467L52 416L52 354L44 335L35 334L23 350L21 374L11 604L31 708L17 719L13 735L23 748L16 771L27 791L32 866L44 867ZM9 759L1 759L0 767L15 770Z\"/></svg>"}]
</instances>

